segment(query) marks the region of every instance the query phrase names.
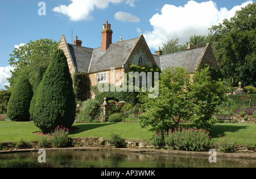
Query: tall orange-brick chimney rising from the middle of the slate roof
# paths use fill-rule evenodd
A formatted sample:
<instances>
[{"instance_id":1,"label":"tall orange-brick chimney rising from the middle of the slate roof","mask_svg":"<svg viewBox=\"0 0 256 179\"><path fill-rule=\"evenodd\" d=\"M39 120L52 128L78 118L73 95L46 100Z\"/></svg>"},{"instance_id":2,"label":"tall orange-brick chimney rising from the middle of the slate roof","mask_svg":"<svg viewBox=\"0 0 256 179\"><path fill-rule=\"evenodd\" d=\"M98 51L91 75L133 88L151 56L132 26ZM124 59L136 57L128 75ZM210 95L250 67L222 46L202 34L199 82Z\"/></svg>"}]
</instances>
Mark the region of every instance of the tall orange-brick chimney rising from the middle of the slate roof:
<instances>
[{"instance_id":1,"label":"tall orange-brick chimney rising from the middle of the slate roof","mask_svg":"<svg viewBox=\"0 0 256 179\"><path fill-rule=\"evenodd\" d=\"M108 50L109 45L112 44L112 33L111 24L107 21L106 24L103 24L101 31L101 52Z\"/></svg>"}]
</instances>

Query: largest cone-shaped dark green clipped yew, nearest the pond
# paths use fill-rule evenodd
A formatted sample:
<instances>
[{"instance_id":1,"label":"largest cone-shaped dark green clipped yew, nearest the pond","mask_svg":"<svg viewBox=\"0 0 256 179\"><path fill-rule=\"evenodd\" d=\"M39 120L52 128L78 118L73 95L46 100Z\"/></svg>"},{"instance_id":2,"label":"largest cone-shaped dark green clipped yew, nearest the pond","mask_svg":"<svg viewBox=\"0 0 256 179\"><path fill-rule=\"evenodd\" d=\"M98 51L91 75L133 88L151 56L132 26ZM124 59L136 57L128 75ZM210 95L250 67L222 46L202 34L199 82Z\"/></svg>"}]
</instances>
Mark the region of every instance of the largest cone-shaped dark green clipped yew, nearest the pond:
<instances>
[{"instance_id":1,"label":"largest cone-shaped dark green clipped yew, nearest the pond","mask_svg":"<svg viewBox=\"0 0 256 179\"><path fill-rule=\"evenodd\" d=\"M67 58L56 50L43 76L34 110L34 123L49 132L57 126L69 128L75 121L76 101Z\"/></svg>"}]
</instances>

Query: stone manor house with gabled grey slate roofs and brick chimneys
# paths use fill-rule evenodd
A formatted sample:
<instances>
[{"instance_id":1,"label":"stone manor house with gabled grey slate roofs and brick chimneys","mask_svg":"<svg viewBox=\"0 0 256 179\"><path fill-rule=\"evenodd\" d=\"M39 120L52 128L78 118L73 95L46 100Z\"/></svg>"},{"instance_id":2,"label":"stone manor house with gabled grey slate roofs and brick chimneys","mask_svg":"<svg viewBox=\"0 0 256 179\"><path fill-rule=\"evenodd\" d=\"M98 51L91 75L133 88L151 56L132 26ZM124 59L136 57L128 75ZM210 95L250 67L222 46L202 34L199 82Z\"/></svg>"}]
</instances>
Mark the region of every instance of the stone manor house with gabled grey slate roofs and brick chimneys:
<instances>
[{"instance_id":1,"label":"stone manor house with gabled grey slate roofs and brick chimneys","mask_svg":"<svg viewBox=\"0 0 256 179\"><path fill-rule=\"evenodd\" d=\"M71 75L75 71L82 71L89 74L90 86L96 86L99 82L113 82L110 79L110 69L115 68L117 73L129 73L129 63L139 66L158 65L161 70L166 67L181 66L193 73L197 66L202 68L206 63L209 66L218 68L216 59L207 44L205 48L187 49L183 52L162 55L161 51L152 54L147 42L141 34L139 37L129 40L112 42L113 31L111 24L103 24L101 31L101 45L98 48L82 46L82 41L76 39L74 44L68 44L65 36L61 36L59 49L63 49L67 57ZM115 86L122 85L122 80L114 80Z\"/></svg>"}]
</instances>

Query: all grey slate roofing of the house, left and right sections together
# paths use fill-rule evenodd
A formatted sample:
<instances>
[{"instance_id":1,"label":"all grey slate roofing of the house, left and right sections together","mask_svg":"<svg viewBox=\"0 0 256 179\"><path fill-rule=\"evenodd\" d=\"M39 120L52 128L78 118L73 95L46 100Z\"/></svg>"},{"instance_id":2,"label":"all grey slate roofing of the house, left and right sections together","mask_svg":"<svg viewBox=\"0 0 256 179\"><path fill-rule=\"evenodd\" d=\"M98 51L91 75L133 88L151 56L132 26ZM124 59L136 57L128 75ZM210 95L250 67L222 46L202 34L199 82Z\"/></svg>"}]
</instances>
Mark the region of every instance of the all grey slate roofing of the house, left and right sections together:
<instances>
[{"instance_id":1,"label":"all grey slate roofing of the house, left and right sections together","mask_svg":"<svg viewBox=\"0 0 256 179\"><path fill-rule=\"evenodd\" d=\"M140 37L118 41L110 44L108 50L101 52L101 48L85 48L82 46L68 44L73 63L78 71L85 73L97 73L107 71L114 67L122 68L129 58ZM156 65L162 70L167 67L181 66L193 73L203 58L205 48L191 49L183 52L167 54L163 56L153 55Z\"/></svg>"}]
</instances>

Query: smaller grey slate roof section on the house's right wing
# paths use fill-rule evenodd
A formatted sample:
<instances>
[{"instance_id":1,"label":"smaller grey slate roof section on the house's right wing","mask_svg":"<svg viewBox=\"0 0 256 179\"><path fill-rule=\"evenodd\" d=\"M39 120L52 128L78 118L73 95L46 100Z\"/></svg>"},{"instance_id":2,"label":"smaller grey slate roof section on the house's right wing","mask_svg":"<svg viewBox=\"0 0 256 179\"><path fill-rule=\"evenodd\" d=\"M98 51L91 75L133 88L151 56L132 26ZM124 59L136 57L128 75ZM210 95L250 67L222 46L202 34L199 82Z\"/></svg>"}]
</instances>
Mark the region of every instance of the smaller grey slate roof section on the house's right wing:
<instances>
[{"instance_id":1,"label":"smaller grey slate roof section on the house's right wing","mask_svg":"<svg viewBox=\"0 0 256 179\"><path fill-rule=\"evenodd\" d=\"M183 52L177 52L160 56L159 59L154 56L156 63L158 63L162 70L167 67L184 67L189 73L196 70L200 63L205 48L191 49Z\"/></svg>"}]
</instances>

